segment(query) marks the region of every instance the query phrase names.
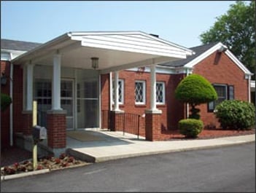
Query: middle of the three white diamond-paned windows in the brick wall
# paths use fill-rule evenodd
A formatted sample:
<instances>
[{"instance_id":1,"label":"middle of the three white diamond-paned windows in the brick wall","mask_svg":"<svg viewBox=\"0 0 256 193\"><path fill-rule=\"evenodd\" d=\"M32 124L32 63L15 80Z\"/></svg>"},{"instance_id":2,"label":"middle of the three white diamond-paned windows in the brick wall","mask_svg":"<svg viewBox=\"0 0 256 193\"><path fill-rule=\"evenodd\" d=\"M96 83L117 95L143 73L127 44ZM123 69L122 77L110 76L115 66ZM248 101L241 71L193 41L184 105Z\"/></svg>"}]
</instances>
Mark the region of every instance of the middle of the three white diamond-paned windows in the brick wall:
<instances>
[{"instance_id":1,"label":"middle of the three white diamond-paned windows in the brick wall","mask_svg":"<svg viewBox=\"0 0 256 193\"><path fill-rule=\"evenodd\" d=\"M146 103L146 82L137 80L135 82L135 103L145 104Z\"/></svg>"}]
</instances>

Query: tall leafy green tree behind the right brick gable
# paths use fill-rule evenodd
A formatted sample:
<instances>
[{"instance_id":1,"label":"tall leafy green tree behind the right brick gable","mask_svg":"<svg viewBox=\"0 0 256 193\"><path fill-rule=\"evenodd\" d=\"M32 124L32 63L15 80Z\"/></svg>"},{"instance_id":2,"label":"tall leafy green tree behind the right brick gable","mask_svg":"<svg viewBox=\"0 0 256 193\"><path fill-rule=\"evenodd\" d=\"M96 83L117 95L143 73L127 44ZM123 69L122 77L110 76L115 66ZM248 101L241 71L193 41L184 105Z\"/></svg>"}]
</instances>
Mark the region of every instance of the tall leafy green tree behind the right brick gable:
<instances>
[{"instance_id":1,"label":"tall leafy green tree behind the right brick gable","mask_svg":"<svg viewBox=\"0 0 256 193\"><path fill-rule=\"evenodd\" d=\"M249 71L255 73L255 1L231 4L225 15L200 35L203 44L222 42ZM255 76L252 77L255 79Z\"/></svg>"}]
</instances>

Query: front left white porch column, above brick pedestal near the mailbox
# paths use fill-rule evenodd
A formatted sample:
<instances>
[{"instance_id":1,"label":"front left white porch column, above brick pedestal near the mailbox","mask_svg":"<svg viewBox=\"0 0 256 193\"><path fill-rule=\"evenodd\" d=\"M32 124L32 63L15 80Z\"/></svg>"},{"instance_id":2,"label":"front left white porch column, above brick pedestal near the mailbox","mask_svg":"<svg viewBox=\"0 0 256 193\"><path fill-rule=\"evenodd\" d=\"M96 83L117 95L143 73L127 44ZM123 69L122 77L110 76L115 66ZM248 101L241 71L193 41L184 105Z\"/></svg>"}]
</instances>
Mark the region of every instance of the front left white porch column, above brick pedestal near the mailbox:
<instances>
[{"instance_id":1,"label":"front left white porch column, above brick pedestal near the mailbox","mask_svg":"<svg viewBox=\"0 0 256 193\"><path fill-rule=\"evenodd\" d=\"M61 109L61 55L53 56L52 110Z\"/></svg>"}]
</instances>

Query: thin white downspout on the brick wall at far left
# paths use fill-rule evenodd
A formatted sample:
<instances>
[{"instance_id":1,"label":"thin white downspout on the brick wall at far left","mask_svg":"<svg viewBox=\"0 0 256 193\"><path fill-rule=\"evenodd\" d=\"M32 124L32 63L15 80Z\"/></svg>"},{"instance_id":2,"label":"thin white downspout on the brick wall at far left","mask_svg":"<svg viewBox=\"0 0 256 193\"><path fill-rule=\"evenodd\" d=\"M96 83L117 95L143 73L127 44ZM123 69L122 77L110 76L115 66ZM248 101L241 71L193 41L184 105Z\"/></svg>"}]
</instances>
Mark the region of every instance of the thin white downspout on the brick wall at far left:
<instances>
[{"instance_id":1,"label":"thin white downspout on the brick wall at far left","mask_svg":"<svg viewBox=\"0 0 256 193\"><path fill-rule=\"evenodd\" d=\"M10 59L12 60L12 53L10 53ZM12 78L13 78L13 63L10 63L10 72L9 72L9 76L10 76L10 81L9 81L9 96L10 98L12 98L13 96L13 92L12 92ZM12 99L13 101L13 99ZM9 106L9 145L13 146L13 106L12 103Z\"/></svg>"}]
</instances>

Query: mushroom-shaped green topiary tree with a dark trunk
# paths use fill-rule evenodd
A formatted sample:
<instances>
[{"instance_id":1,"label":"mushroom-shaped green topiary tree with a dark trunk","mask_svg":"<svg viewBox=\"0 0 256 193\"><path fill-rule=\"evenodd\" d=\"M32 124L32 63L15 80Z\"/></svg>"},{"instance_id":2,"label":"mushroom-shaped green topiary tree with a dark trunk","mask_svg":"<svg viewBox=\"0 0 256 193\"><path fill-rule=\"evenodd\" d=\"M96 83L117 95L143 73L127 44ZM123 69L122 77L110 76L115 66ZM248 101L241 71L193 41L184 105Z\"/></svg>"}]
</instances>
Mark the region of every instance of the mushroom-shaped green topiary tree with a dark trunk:
<instances>
[{"instance_id":1,"label":"mushroom-shaped green topiary tree with a dark trunk","mask_svg":"<svg viewBox=\"0 0 256 193\"><path fill-rule=\"evenodd\" d=\"M217 99L217 92L212 84L199 74L190 74L179 82L175 90L175 98L191 105L190 119L200 119L199 109L195 106L209 103Z\"/></svg>"}]
</instances>

